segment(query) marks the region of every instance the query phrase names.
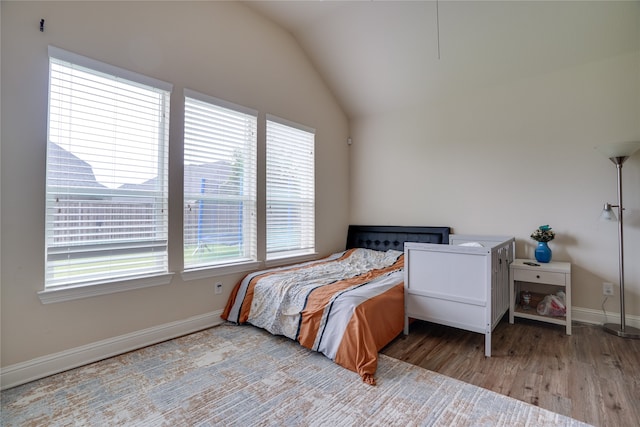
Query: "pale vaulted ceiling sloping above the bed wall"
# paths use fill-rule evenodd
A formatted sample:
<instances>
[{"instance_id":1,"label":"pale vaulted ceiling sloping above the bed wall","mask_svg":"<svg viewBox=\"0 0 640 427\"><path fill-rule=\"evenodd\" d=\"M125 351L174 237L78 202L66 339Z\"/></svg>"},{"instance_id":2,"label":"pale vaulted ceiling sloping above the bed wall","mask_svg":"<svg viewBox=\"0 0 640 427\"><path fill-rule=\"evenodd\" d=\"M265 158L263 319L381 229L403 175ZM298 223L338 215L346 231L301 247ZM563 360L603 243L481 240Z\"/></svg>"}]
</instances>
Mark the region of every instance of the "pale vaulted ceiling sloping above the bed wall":
<instances>
[{"instance_id":1,"label":"pale vaulted ceiling sloping above the bed wall","mask_svg":"<svg viewBox=\"0 0 640 427\"><path fill-rule=\"evenodd\" d=\"M246 1L349 117L640 50L640 1Z\"/></svg>"}]
</instances>

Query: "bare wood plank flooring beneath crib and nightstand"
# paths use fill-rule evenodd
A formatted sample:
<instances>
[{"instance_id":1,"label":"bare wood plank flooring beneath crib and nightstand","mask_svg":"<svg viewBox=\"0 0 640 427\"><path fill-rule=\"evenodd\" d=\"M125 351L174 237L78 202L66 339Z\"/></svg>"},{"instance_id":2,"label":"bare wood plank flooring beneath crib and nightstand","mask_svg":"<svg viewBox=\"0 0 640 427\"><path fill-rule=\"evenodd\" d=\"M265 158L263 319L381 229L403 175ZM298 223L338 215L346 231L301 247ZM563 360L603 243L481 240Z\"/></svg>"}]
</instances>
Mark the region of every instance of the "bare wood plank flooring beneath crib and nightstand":
<instances>
[{"instance_id":1,"label":"bare wood plank flooring beneath crib and nightstand","mask_svg":"<svg viewBox=\"0 0 640 427\"><path fill-rule=\"evenodd\" d=\"M508 317L484 335L415 321L383 354L594 426L640 426L640 340Z\"/></svg>"}]
</instances>

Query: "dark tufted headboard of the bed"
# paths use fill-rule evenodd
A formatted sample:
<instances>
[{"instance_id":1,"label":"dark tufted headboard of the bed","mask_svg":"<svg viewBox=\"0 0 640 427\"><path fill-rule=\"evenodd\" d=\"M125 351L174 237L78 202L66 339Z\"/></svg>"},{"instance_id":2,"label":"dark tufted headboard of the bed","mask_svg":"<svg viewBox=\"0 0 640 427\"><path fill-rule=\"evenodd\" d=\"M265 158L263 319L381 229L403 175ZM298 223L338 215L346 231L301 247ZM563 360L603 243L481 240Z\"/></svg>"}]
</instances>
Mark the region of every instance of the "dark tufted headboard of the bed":
<instances>
[{"instance_id":1,"label":"dark tufted headboard of the bed","mask_svg":"<svg viewBox=\"0 0 640 427\"><path fill-rule=\"evenodd\" d=\"M404 251L404 242L449 244L449 227L350 225L347 249L368 248Z\"/></svg>"}]
</instances>

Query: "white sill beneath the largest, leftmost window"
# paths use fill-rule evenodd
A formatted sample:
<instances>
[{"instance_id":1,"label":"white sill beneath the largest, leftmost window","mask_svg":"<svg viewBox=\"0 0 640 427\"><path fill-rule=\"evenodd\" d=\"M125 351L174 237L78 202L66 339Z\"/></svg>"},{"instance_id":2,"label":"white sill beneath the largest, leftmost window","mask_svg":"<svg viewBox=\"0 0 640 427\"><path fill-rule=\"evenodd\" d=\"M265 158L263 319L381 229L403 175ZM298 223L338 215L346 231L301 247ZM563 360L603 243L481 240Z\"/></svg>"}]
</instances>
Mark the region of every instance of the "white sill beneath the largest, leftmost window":
<instances>
[{"instance_id":1,"label":"white sill beneath the largest, leftmost window","mask_svg":"<svg viewBox=\"0 0 640 427\"><path fill-rule=\"evenodd\" d=\"M134 289L148 288L151 286L168 285L171 283L172 278L173 273L166 273L136 279L120 280L116 282L94 283L90 285L71 285L45 289L38 292L38 297L43 304L51 304L90 298L99 295L114 294L116 292L131 291Z\"/></svg>"}]
</instances>

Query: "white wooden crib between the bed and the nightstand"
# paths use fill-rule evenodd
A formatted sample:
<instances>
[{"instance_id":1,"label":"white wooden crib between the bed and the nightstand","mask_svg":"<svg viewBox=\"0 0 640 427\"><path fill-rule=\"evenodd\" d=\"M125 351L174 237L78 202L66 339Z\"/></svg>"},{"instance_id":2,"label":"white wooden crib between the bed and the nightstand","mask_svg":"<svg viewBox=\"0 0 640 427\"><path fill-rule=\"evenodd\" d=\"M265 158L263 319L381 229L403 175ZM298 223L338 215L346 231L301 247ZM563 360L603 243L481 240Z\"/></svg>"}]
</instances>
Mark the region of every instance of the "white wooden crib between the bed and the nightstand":
<instances>
[{"instance_id":1,"label":"white wooden crib between the bed and the nightstand","mask_svg":"<svg viewBox=\"0 0 640 427\"><path fill-rule=\"evenodd\" d=\"M449 236L448 245L404 245L404 333L409 318L485 334L491 356L491 332L509 309L509 264L515 239L503 236Z\"/></svg>"}]
</instances>

